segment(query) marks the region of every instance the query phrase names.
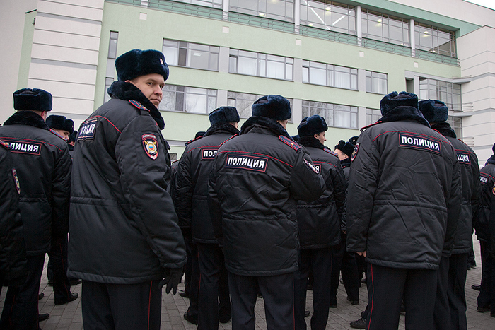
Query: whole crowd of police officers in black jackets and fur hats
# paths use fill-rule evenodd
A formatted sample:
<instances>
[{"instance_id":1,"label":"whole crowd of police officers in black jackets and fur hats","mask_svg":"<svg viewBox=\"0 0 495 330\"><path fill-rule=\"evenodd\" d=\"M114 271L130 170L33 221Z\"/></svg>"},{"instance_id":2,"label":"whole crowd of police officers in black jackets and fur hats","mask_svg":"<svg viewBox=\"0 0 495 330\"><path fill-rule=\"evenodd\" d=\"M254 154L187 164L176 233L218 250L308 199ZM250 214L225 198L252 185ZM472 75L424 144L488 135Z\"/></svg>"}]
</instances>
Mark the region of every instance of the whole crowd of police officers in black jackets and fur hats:
<instances>
[{"instance_id":1,"label":"whole crowd of police officers in black jackets and fur hats","mask_svg":"<svg viewBox=\"0 0 495 330\"><path fill-rule=\"evenodd\" d=\"M477 156L456 139L443 102L390 93L378 122L331 151L325 119L305 117L291 137L289 101L267 95L240 129L235 107L211 112L209 129L172 165L158 111L165 57L133 49L115 66L112 98L81 124L72 161L45 123L52 95L14 93L17 112L0 127L9 285L0 329L38 329L45 253L63 250L68 232L64 276L82 279L85 329L159 329L162 288L176 293L186 255L184 317L198 329L230 319L233 329L255 329L258 295L268 329L306 329L310 274L310 327L325 329L339 269L347 299L359 304L356 254L368 265L368 306L351 326L397 329L403 304L406 329L466 329L473 219L478 310L495 317L495 156L480 181ZM67 294L62 303L77 297Z\"/></svg>"}]
</instances>

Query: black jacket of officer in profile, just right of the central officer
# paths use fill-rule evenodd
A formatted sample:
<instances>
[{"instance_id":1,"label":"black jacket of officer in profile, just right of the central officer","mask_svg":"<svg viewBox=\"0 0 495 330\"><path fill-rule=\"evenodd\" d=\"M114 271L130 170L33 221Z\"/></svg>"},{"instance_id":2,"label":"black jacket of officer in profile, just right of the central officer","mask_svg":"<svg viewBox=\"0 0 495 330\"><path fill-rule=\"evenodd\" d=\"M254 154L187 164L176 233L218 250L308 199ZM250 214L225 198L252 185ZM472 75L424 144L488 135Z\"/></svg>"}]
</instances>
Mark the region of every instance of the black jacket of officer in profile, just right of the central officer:
<instances>
[{"instance_id":1,"label":"black jacket of officer in profile, just right of the central officer","mask_svg":"<svg viewBox=\"0 0 495 330\"><path fill-rule=\"evenodd\" d=\"M298 201L297 219L301 249L322 249L340 242L340 218L346 199L344 172L339 157L313 136L298 140L306 148L326 189L316 201Z\"/></svg>"}]
</instances>

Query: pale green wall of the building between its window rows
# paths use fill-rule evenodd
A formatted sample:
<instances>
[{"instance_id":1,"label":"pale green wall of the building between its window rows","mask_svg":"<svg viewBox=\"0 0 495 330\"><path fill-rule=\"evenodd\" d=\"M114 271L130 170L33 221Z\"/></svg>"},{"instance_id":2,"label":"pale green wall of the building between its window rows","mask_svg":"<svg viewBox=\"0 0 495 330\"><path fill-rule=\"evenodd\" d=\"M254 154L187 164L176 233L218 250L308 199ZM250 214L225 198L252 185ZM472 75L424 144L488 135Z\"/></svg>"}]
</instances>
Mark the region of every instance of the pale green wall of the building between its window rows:
<instances>
[{"instance_id":1,"label":"pale green wall of the building between its window rows","mask_svg":"<svg viewBox=\"0 0 495 330\"><path fill-rule=\"evenodd\" d=\"M377 4L388 3L388 1L375 2ZM402 5L397 6L401 6L400 8L402 9L405 7ZM408 10L410 9L409 7L407 8ZM147 19L140 20L140 13L146 13ZM409 11L409 13L412 13L412 11ZM421 15L424 17L430 14L421 11ZM441 19L438 16L438 20L441 21ZM465 26L465 23L457 20L455 20L455 23L459 27ZM223 33L223 27L228 27L229 33ZM424 73L449 79L460 77L460 68L458 66L439 64L414 57L380 52L374 49L330 42L328 40L305 37L293 33L282 33L276 30L256 28L222 20L199 18L150 8L105 2L100 39L95 107L103 103L108 42L111 30L118 31L119 33L117 56L134 48L161 50L163 38L167 38L387 73L389 92L392 90L406 90L404 71L413 71L419 74ZM301 46L296 45L296 40L301 40ZM364 53L364 57L360 56L360 52ZM414 63L417 63L418 67L415 67ZM261 95L268 93L279 94L284 95L286 98L330 102L357 107L371 107L375 109L378 109L380 100L383 98L383 95L363 91L358 92L355 90L295 83L293 81L195 70L177 66L170 67L170 77L166 83ZM177 112L162 112L162 114L166 122L165 130L163 131L165 139L187 141L194 138L194 134L197 131L204 131L209 127L206 114ZM297 134L297 124L289 124L287 129L291 135ZM363 126L363 123L360 123L360 125ZM327 136L329 136L327 146L333 147L340 139L347 140L350 136L358 134L359 131L354 129L331 128L327 132ZM170 152L177 153L180 156L182 150L183 148L173 147Z\"/></svg>"}]
</instances>

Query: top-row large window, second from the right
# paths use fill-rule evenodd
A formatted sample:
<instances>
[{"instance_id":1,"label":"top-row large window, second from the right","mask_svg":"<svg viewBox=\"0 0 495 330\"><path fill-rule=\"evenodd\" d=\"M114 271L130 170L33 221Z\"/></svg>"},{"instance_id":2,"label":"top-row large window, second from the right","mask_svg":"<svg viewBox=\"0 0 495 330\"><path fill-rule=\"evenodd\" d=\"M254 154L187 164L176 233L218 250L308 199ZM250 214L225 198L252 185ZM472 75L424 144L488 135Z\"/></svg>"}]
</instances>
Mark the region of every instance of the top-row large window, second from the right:
<instances>
[{"instance_id":1,"label":"top-row large window, second from the right","mask_svg":"<svg viewBox=\"0 0 495 330\"><path fill-rule=\"evenodd\" d=\"M375 11L361 11L363 37L395 45L407 46L409 42L409 20L389 16Z\"/></svg>"}]
</instances>

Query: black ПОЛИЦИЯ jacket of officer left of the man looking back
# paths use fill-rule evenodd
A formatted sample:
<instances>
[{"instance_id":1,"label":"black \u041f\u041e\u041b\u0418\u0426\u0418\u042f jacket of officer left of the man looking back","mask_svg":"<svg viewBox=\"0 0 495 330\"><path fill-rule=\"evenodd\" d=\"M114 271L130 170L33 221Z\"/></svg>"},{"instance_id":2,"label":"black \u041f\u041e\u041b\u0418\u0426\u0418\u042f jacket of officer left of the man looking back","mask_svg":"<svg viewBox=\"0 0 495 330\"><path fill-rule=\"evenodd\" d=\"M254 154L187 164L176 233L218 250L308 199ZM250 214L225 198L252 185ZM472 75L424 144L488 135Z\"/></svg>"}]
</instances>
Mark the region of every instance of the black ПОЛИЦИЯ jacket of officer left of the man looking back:
<instances>
[{"instance_id":1,"label":"black \u041f\u041e\u041b\u0418\u0426\u0418\u042f jacket of officer left of the man looking back","mask_svg":"<svg viewBox=\"0 0 495 330\"><path fill-rule=\"evenodd\" d=\"M50 251L52 241L61 240L69 230L71 156L67 142L48 129L39 114L14 113L0 127L0 139L11 146L21 194L28 256Z\"/></svg>"}]
</instances>

